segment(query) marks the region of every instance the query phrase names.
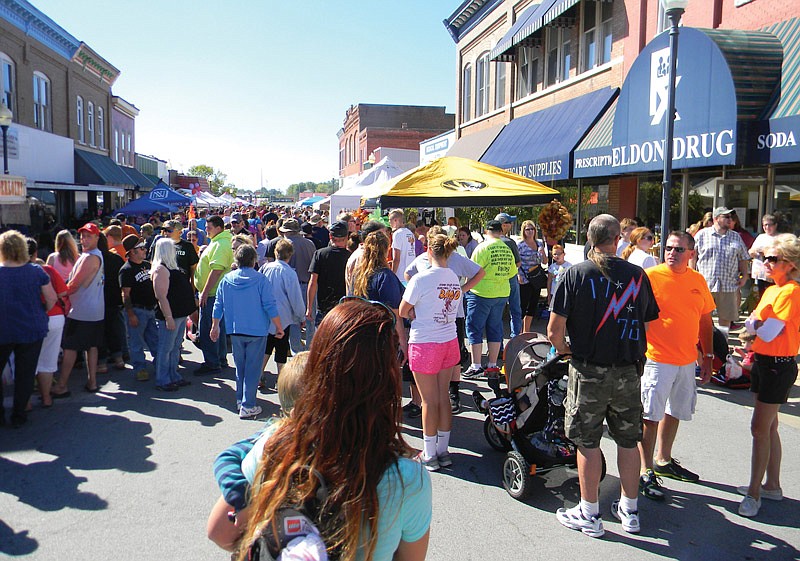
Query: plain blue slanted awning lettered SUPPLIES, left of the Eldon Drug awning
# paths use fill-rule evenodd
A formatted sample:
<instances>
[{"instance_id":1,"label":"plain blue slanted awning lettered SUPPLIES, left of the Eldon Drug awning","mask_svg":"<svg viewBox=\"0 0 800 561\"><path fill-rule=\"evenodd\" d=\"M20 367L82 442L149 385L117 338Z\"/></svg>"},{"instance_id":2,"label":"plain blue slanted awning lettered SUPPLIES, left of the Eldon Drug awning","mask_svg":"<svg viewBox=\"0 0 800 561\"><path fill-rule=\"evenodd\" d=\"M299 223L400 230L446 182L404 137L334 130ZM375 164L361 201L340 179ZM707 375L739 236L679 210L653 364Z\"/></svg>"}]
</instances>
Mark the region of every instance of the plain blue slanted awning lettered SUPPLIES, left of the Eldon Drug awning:
<instances>
[{"instance_id":1,"label":"plain blue slanted awning lettered SUPPLIES, left of the Eldon Drug awning","mask_svg":"<svg viewBox=\"0 0 800 561\"><path fill-rule=\"evenodd\" d=\"M480 161L538 181L568 179L573 150L618 92L603 88L514 119Z\"/></svg>"}]
</instances>

